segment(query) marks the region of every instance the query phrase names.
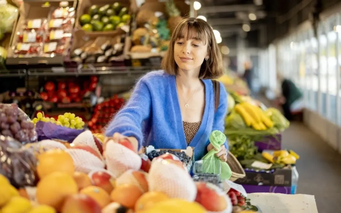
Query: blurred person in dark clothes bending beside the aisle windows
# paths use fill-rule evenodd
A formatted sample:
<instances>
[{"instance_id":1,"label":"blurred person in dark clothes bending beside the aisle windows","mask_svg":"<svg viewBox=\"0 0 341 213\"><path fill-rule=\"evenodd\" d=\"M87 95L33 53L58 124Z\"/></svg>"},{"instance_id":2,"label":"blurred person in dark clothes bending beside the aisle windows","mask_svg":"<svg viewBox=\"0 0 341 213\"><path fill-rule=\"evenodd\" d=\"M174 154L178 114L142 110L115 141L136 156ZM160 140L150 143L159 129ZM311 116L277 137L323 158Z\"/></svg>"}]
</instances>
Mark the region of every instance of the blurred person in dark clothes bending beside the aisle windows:
<instances>
[{"instance_id":1,"label":"blurred person in dark clothes bending beside the aisle windows","mask_svg":"<svg viewBox=\"0 0 341 213\"><path fill-rule=\"evenodd\" d=\"M280 85L280 95L276 103L282 106L286 119L293 120L293 112L302 109L303 94L293 81L284 78L280 72L277 72L276 77Z\"/></svg>"}]
</instances>

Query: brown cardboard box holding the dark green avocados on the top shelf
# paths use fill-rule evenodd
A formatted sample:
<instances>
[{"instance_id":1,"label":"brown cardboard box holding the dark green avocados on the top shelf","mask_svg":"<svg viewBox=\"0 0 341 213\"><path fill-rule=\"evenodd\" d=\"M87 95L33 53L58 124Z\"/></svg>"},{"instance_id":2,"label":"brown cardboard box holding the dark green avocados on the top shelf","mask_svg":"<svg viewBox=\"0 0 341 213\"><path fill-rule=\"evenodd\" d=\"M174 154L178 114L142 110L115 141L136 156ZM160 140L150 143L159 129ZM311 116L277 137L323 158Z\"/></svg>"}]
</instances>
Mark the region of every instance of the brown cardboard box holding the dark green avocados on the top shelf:
<instances>
[{"instance_id":1,"label":"brown cardboard box holding the dark green avocados on the top shelf","mask_svg":"<svg viewBox=\"0 0 341 213\"><path fill-rule=\"evenodd\" d=\"M76 23L75 23L75 29L81 30L82 27L79 23L79 17L83 14L87 14L89 8L92 5L98 5L99 7L104 6L106 4L112 5L114 2L120 3L122 6L127 7L129 9L130 13L130 1L128 0L117 0L117 1L112 1L112 0L79 0L78 6L77 6L77 11L76 11ZM127 32L127 29L117 29L113 31L105 31L105 32L85 32L87 36L89 36L90 39L96 38L98 36L116 36L116 35L122 35ZM129 28L128 28L129 32Z\"/></svg>"}]
</instances>

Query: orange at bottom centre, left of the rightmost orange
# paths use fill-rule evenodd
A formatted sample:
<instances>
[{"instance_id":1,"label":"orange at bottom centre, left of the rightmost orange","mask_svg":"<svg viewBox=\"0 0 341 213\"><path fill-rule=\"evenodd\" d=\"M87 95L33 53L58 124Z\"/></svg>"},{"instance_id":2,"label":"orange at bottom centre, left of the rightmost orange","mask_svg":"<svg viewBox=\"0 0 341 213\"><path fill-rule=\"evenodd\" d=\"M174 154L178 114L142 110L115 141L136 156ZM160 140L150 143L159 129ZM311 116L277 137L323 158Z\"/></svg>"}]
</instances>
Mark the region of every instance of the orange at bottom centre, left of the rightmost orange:
<instances>
[{"instance_id":1,"label":"orange at bottom centre, left of the rightmost orange","mask_svg":"<svg viewBox=\"0 0 341 213\"><path fill-rule=\"evenodd\" d=\"M111 200L122 206L133 209L138 198L143 194L140 188L132 184L122 184L115 187L111 192Z\"/></svg>"}]
</instances>

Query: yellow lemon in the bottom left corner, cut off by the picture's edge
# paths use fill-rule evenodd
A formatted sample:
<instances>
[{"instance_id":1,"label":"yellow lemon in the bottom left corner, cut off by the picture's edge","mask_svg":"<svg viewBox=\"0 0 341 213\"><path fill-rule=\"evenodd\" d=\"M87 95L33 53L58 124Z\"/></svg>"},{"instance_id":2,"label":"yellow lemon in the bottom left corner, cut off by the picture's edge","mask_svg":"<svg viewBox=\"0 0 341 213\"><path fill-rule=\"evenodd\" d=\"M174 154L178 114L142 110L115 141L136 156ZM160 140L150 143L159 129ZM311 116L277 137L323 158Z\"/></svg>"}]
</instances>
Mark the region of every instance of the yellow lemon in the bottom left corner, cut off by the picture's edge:
<instances>
[{"instance_id":1,"label":"yellow lemon in the bottom left corner, cut off by the picture's edge","mask_svg":"<svg viewBox=\"0 0 341 213\"><path fill-rule=\"evenodd\" d=\"M26 213L32 208L31 201L24 197L12 197L2 208L2 213Z\"/></svg>"}]
</instances>

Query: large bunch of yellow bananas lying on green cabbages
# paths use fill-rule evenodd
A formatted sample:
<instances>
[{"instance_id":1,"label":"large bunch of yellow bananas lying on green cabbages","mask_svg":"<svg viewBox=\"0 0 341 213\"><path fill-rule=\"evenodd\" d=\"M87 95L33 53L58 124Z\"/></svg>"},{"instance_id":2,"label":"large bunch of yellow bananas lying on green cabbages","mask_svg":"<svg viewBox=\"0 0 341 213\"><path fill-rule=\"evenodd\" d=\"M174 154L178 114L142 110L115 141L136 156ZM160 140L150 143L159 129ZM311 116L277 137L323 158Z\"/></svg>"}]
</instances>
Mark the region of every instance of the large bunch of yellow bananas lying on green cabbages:
<instances>
[{"instance_id":1,"label":"large bunch of yellow bananas lying on green cabbages","mask_svg":"<svg viewBox=\"0 0 341 213\"><path fill-rule=\"evenodd\" d=\"M243 117L246 126L254 130L267 130L273 127L273 122L259 107L243 102L237 104L235 110Z\"/></svg>"}]
</instances>

